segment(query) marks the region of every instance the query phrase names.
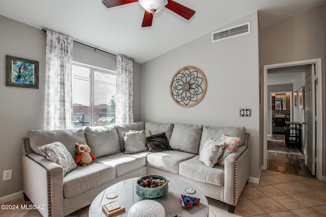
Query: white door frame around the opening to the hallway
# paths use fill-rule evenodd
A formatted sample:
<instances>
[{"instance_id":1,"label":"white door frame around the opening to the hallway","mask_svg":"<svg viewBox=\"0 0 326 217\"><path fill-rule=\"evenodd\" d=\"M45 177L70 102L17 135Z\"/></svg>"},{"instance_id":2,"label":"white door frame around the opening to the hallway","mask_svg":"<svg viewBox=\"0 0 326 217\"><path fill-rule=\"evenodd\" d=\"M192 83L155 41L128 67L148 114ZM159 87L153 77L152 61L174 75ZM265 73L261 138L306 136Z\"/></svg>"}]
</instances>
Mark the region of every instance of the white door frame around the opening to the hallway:
<instances>
[{"instance_id":1,"label":"white door frame around the opening to the hallway","mask_svg":"<svg viewBox=\"0 0 326 217\"><path fill-rule=\"evenodd\" d=\"M321 69L321 58L316 59L306 59L299 61L291 61L287 63L271 64L265 65L263 67L263 170L267 169L267 70L282 68L282 67L292 67L301 65L311 65L316 66L316 76L319 80L319 84L316 85L316 178L322 180L322 69Z\"/></svg>"}]
</instances>

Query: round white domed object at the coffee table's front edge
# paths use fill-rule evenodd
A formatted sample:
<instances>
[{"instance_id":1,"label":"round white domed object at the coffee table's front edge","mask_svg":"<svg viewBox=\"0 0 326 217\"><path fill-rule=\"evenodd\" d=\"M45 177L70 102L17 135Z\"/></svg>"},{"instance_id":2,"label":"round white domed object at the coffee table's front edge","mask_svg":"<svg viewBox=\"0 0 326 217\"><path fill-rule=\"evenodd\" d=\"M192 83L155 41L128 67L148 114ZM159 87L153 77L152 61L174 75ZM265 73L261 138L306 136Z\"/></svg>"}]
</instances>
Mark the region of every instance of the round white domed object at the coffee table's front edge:
<instances>
[{"instance_id":1,"label":"round white domed object at the coffee table's front edge","mask_svg":"<svg viewBox=\"0 0 326 217\"><path fill-rule=\"evenodd\" d=\"M138 216L165 217L165 209L155 200L142 200L133 204L127 214L127 217Z\"/></svg>"}]
</instances>

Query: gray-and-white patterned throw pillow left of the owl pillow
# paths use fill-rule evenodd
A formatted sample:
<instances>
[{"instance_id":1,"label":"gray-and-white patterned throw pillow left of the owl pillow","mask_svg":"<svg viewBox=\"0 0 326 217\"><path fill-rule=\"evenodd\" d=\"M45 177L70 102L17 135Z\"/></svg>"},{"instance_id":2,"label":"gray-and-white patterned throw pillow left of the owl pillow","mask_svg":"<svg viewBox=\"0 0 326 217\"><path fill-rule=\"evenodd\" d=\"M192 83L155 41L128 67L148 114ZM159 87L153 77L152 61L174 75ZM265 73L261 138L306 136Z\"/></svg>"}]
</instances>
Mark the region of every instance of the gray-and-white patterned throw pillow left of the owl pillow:
<instances>
[{"instance_id":1,"label":"gray-and-white patterned throw pillow left of the owl pillow","mask_svg":"<svg viewBox=\"0 0 326 217\"><path fill-rule=\"evenodd\" d=\"M63 175L77 168L76 162L61 142L52 142L37 148L47 160L63 167Z\"/></svg>"}]
</instances>

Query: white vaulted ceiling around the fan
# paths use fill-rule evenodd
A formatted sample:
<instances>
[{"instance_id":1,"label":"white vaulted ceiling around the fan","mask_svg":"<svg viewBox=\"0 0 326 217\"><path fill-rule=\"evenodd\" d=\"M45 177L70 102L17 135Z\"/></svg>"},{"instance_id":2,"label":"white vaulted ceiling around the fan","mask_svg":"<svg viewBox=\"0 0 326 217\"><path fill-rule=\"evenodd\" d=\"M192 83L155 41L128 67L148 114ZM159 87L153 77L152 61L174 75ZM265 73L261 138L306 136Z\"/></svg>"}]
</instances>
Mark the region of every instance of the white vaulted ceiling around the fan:
<instances>
[{"instance_id":1,"label":"white vaulted ceiling around the fan","mask_svg":"<svg viewBox=\"0 0 326 217\"><path fill-rule=\"evenodd\" d=\"M325 3L325 0L175 0L196 11L185 20L167 8L142 28L139 3L106 8L101 0L1 0L0 15L67 35L77 41L144 63L259 11L265 28Z\"/></svg>"}]
</instances>

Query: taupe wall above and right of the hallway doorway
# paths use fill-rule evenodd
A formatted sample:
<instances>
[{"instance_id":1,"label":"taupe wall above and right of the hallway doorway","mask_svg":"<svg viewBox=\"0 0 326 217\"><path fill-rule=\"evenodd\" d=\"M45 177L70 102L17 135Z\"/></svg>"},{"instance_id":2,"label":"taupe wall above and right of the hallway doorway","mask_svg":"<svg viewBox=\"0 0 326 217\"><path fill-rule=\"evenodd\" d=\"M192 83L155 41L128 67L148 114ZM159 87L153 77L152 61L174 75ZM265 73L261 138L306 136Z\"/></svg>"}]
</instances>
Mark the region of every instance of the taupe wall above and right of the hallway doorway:
<instances>
[{"instance_id":1,"label":"taupe wall above and right of the hallway doorway","mask_svg":"<svg viewBox=\"0 0 326 217\"><path fill-rule=\"evenodd\" d=\"M323 96L323 150L326 148L325 100L325 6L306 11L295 17L260 30L261 66L296 60L321 58ZM326 154L323 151L323 176L326 174Z\"/></svg>"}]
</instances>

